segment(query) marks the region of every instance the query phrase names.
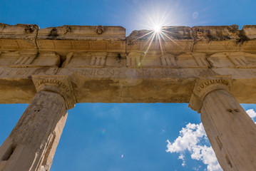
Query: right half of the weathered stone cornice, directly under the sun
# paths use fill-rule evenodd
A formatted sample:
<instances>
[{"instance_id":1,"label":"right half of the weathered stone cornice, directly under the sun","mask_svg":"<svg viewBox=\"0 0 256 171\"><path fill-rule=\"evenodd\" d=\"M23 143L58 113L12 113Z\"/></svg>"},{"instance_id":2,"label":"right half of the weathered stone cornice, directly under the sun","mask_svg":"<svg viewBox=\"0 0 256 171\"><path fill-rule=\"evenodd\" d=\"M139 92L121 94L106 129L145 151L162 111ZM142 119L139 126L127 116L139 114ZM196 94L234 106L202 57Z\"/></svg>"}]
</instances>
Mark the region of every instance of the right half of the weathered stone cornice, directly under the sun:
<instances>
[{"instance_id":1,"label":"right half of the weathered stone cornice, directly under the sun","mask_svg":"<svg viewBox=\"0 0 256 171\"><path fill-rule=\"evenodd\" d=\"M163 28L168 36L161 41L165 53L179 54L184 52L216 53L222 51L244 51L255 53L256 26L168 26ZM150 31L133 31L127 37L127 51L144 52L149 45ZM155 38L150 51L161 51Z\"/></svg>"}]
</instances>

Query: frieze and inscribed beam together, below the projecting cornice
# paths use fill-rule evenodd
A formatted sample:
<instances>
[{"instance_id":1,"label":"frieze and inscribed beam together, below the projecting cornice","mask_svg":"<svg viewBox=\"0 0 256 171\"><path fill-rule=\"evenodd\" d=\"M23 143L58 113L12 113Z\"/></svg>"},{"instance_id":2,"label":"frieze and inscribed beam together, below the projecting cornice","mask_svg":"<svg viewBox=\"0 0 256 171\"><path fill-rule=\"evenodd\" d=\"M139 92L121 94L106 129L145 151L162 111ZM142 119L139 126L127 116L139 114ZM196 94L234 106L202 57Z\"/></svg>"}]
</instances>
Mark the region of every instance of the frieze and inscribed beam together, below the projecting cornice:
<instances>
[{"instance_id":1,"label":"frieze and inscribed beam together, below the projecting cornice","mask_svg":"<svg viewBox=\"0 0 256 171\"><path fill-rule=\"evenodd\" d=\"M28 58L34 58L34 54ZM179 56L170 53L165 53L163 56L148 53L144 56L143 53L130 52L127 56L121 56L118 53L76 52L68 53L66 61L62 64L58 64L59 59L55 53L41 52L31 64L15 64L21 58L20 53L2 53L2 55L0 60L3 61L4 66L0 68L0 103L29 103L36 92L31 81L33 75L70 76L78 103L188 103L193 82L202 76L231 76L233 84L230 93L240 103L256 101L254 53L222 52L211 56L207 53L195 52L183 53ZM59 66L61 68L58 68ZM119 82L130 82L130 80L137 82L141 79L143 81L140 85L118 86ZM96 86L97 83L101 86ZM180 90L158 98L158 94L164 94L166 90L153 85ZM152 93L148 94L140 89L143 86ZM248 91L245 92L241 88L244 86ZM128 94L120 93L123 90L128 90L126 91ZM141 92L140 98L130 94L130 90ZM98 93L91 94L88 91Z\"/></svg>"}]
</instances>

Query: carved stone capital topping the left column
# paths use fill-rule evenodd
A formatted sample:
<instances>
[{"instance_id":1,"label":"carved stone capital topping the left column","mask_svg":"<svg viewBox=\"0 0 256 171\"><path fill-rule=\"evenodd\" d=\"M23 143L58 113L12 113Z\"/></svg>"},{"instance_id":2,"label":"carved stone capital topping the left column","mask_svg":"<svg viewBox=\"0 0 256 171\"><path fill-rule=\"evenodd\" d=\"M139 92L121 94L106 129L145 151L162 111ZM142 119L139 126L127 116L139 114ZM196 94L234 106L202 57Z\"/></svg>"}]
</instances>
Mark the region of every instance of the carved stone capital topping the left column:
<instances>
[{"instance_id":1,"label":"carved stone capital topping the left column","mask_svg":"<svg viewBox=\"0 0 256 171\"><path fill-rule=\"evenodd\" d=\"M76 97L69 76L34 75L32 80L37 91L51 91L62 95L66 101L66 110L75 106Z\"/></svg>"}]
</instances>

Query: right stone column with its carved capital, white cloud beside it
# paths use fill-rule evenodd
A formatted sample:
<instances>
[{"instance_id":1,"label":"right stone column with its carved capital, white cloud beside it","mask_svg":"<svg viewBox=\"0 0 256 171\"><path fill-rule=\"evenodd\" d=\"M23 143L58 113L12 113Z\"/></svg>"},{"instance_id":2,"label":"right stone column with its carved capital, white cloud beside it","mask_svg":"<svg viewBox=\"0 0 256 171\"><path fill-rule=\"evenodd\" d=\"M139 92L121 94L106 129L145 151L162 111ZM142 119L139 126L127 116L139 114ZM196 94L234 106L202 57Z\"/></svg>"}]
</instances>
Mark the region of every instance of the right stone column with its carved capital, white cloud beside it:
<instances>
[{"instance_id":1,"label":"right stone column with its carved capital, white cloud beside it","mask_svg":"<svg viewBox=\"0 0 256 171\"><path fill-rule=\"evenodd\" d=\"M223 170L255 170L256 125L230 94L229 79L200 79L190 108L201 120Z\"/></svg>"}]
</instances>

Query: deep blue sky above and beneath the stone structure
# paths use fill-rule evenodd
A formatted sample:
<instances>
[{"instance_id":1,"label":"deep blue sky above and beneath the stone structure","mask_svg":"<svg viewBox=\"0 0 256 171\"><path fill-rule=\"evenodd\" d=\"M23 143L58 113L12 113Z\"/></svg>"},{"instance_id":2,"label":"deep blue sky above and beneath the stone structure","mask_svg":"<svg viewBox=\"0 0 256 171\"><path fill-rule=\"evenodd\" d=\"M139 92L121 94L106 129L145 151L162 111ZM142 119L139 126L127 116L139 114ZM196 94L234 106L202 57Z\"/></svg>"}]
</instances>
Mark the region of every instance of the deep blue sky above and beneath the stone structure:
<instances>
[{"instance_id":1,"label":"deep blue sky above and beneath the stone structure","mask_svg":"<svg viewBox=\"0 0 256 171\"><path fill-rule=\"evenodd\" d=\"M157 22L162 17L165 26L237 24L242 28L256 24L255 6L255 0L1 0L0 22L38 24L40 28L123 26L128 36L135 29L150 29L150 19ZM11 133L26 106L0 105L0 144ZM256 110L256 105L242 106L245 110ZM250 110L250 115L256 114ZM210 144L201 129L200 115L186 103L76 104L76 108L68 110L51 171L214 170L216 163L209 163L207 159L211 156ZM197 136L198 142L178 146L178 140L186 136ZM209 148L203 148L204 145ZM195 156L195 151L188 147L198 147L195 150L200 149L206 155ZM215 167L215 170L220 169Z\"/></svg>"}]
</instances>

